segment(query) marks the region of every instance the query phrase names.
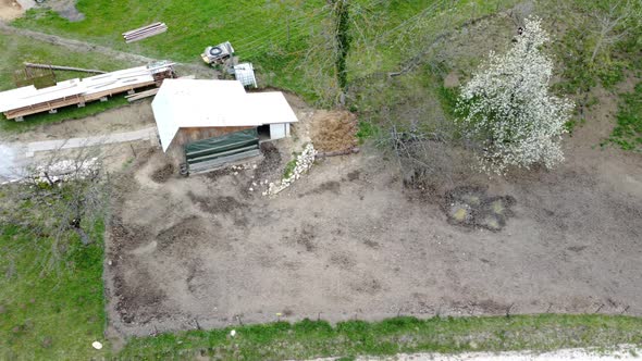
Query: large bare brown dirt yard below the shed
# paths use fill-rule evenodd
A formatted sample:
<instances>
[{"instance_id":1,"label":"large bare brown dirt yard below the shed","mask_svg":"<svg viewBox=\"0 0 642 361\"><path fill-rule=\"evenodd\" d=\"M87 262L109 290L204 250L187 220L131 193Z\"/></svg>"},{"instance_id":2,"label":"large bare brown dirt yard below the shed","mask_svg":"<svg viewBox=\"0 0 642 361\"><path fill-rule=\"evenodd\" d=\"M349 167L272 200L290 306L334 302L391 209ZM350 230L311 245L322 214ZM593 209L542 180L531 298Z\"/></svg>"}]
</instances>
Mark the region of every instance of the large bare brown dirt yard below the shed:
<instances>
[{"instance_id":1,"label":"large bare brown dirt yard below the shed","mask_svg":"<svg viewBox=\"0 0 642 361\"><path fill-rule=\"evenodd\" d=\"M304 318L640 315L641 158L593 148L614 105L567 139L554 171L457 179L515 199L501 232L448 223L442 190L406 189L374 150L320 161L274 199L248 188L279 178L289 145L257 169L188 178L168 176L159 151L138 157L108 229L112 326L147 335ZM314 112L297 112L293 139L305 139Z\"/></svg>"}]
</instances>

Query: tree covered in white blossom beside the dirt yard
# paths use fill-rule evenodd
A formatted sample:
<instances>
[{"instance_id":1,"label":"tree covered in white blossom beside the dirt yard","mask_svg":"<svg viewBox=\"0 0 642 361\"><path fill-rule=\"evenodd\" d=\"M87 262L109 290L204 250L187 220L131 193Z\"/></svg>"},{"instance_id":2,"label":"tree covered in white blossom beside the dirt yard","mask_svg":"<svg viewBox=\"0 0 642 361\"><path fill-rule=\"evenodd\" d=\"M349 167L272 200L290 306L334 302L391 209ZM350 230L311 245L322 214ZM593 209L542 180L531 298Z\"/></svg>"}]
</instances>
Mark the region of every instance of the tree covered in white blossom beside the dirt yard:
<instances>
[{"instance_id":1,"label":"tree covered in white blossom beside the dirt yard","mask_svg":"<svg viewBox=\"0 0 642 361\"><path fill-rule=\"evenodd\" d=\"M458 123L486 173L564 160L560 140L575 105L550 94L553 62L542 52L547 41L540 21L527 20L513 48L491 53L461 89Z\"/></svg>"}]
</instances>

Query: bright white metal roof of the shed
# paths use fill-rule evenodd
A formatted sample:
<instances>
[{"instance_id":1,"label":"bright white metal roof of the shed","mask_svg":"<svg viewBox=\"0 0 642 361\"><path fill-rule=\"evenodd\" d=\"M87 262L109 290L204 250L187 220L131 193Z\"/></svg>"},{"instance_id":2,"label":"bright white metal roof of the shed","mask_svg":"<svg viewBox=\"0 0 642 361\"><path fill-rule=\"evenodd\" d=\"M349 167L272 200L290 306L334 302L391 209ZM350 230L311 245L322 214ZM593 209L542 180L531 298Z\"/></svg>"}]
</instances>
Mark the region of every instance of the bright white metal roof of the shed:
<instances>
[{"instance_id":1,"label":"bright white metal roof of the shed","mask_svg":"<svg viewBox=\"0 0 642 361\"><path fill-rule=\"evenodd\" d=\"M247 94L237 80L165 79L151 108L164 151L180 128L298 122L282 92Z\"/></svg>"}]
</instances>

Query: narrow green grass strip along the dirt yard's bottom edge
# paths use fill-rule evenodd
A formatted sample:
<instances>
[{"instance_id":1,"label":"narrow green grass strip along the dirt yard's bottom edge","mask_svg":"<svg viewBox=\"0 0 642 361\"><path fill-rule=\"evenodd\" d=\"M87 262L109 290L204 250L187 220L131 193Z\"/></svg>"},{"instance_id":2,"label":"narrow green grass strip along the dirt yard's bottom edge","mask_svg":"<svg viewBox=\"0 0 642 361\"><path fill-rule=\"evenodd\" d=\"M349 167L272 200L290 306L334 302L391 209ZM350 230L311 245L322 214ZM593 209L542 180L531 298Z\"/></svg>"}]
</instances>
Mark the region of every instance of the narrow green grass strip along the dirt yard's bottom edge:
<instances>
[{"instance_id":1,"label":"narrow green grass strip along the dirt yard's bottom edge","mask_svg":"<svg viewBox=\"0 0 642 361\"><path fill-rule=\"evenodd\" d=\"M236 336L231 337L230 331ZM399 352L535 350L642 343L642 319L602 315L396 318L349 321L335 327L323 321L285 322L193 331L133 338L124 359L284 360L317 357L390 356Z\"/></svg>"}]
</instances>

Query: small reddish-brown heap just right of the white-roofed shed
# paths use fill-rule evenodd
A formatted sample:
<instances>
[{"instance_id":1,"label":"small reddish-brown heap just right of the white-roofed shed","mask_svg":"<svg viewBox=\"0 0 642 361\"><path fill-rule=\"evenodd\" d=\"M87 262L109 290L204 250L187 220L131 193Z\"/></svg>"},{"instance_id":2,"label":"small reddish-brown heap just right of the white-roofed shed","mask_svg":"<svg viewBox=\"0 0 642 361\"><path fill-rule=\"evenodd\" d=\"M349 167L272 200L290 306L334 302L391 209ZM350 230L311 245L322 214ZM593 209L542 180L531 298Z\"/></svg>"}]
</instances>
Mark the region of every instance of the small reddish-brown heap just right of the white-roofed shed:
<instances>
[{"instance_id":1,"label":"small reddish-brown heap just right of the white-roofed shed","mask_svg":"<svg viewBox=\"0 0 642 361\"><path fill-rule=\"evenodd\" d=\"M342 151L357 145L357 117L346 111L319 111L312 116L312 144L319 151Z\"/></svg>"}]
</instances>

